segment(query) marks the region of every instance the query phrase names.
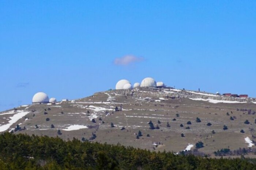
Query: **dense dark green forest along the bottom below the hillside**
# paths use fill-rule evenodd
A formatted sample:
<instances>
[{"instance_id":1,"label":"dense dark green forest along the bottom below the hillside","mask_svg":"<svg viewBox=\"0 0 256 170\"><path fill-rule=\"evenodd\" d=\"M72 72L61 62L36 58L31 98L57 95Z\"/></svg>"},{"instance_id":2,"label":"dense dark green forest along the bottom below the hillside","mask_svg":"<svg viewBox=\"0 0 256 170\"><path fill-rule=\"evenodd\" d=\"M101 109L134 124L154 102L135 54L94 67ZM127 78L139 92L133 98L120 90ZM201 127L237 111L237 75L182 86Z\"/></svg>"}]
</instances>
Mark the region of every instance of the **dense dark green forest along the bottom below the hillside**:
<instances>
[{"instance_id":1,"label":"dense dark green forest along the bottom below the hillside","mask_svg":"<svg viewBox=\"0 0 256 170\"><path fill-rule=\"evenodd\" d=\"M256 169L246 159L212 159L58 137L0 135L0 169Z\"/></svg>"}]
</instances>

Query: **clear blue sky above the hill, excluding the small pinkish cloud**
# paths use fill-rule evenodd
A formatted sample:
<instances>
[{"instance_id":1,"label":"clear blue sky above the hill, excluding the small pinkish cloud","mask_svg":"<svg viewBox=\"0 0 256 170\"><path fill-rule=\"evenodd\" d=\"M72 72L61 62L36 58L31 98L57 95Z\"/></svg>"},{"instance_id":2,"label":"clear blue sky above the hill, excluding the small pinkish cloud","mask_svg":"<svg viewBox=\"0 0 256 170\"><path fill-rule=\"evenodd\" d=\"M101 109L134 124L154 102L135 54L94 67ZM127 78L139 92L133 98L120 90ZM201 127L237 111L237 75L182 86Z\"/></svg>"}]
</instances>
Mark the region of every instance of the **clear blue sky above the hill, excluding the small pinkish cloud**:
<instances>
[{"instance_id":1,"label":"clear blue sky above the hill, excluding the small pinkish cloud","mask_svg":"<svg viewBox=\"0 0 256 170\"><path fill-rule=\"evenodd\" d=\"M256 97L256 1L0 1L0 111L153 77ZM139 58L126 65L114 61Z\"/></svg>"}]
</instances>

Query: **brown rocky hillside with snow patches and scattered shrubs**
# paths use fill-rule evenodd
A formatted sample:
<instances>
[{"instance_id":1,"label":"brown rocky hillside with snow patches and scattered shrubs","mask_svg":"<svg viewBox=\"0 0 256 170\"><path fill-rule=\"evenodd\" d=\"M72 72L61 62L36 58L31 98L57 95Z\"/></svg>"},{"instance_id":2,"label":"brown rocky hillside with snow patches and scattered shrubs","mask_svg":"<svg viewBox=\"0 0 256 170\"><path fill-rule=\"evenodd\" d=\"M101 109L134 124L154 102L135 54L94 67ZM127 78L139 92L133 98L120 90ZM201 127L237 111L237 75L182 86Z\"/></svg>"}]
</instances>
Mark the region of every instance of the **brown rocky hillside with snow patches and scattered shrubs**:
<instances>
[{"instance_id":1,"label":"brown rocky hillside with snow patches and scattered shrubs","mask_svg":"<svg viewBox=\"0 0 256 170\"><path fill-rule=\"evenodd\" d=\"M199 151L213 155L222 148L255 147L255 111L254 98L169 88L110 90L83 99L0 112L0 131L174 152L188 146L194 149L202 141L204 147ZM150 129L150 121L155 129ZM252 142L247 138L246 143L246 137Z\"/></svg>"}]
</instances>

